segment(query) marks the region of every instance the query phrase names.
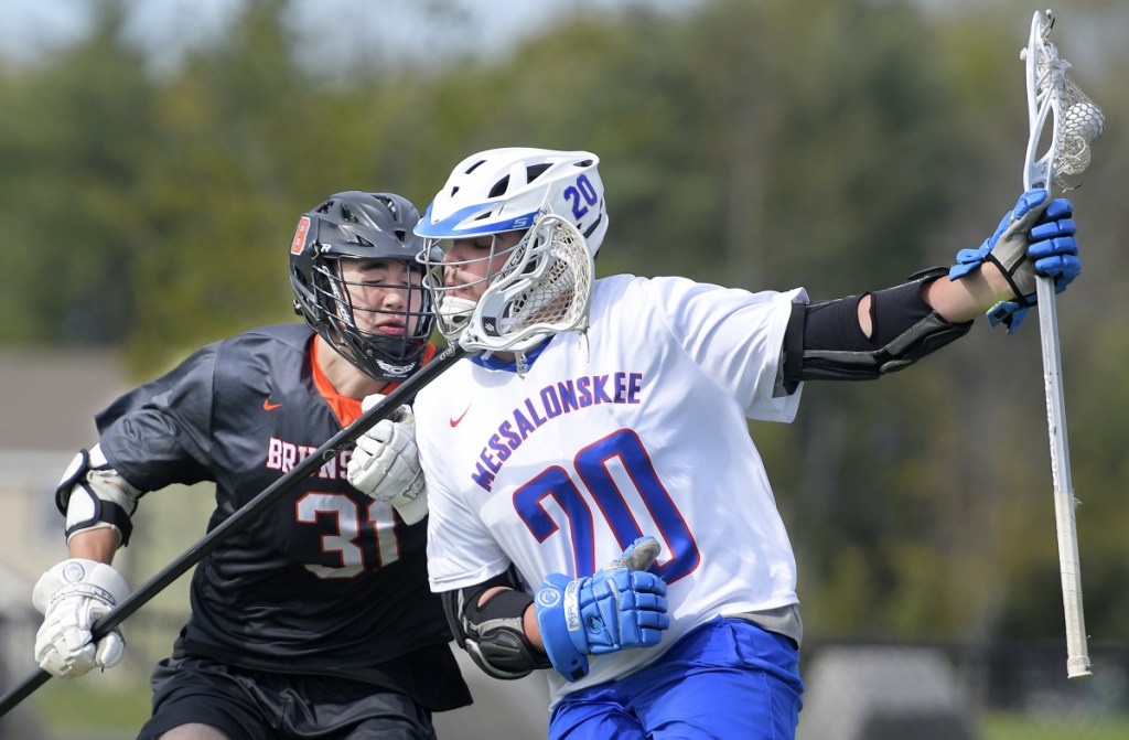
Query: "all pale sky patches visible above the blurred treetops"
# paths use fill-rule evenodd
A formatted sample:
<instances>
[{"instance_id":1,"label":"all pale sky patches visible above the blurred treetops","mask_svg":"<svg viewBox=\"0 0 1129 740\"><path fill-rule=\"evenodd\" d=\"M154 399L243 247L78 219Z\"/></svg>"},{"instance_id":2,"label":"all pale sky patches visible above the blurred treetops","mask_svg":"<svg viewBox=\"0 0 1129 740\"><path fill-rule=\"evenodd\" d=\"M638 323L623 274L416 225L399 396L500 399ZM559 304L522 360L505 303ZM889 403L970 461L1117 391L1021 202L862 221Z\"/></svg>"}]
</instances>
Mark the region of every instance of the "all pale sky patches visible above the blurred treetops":
<instances>
[{"instance_id":1,"label":"all pale sky patches visible above the blurred treetops","mask_svg":"<svg viewBox=\"0 0 1129 740\"><path fill-rule=\"evenodd\" d=\"M299 29L300 61L332 75L347 64L384 59L388 51L413 61L505 52L515 41L577 14L647 7L676 14L704 0L290 0L288 19ZM872 0L881 5L885 0ZM1025 0L912 0L926 14L1015 7L1015 36L1022 45L1032 10ZM246 0L128 0L129 41L148 52L156 70L175 69L185 50L207 44ZM90 23L93 0L0 0L0 60L27 62L80 38ZM1062 8L1057 28L1078 69L1096 75L1124 58L1129 3L1103 10ZM440 11L439 8L445 9ZM1021 9L1022 8L1022 9ZM1077 11L1075 11L1077 10ZM1009 11L1010 12L1010 11ZM1018 43L1017 43L1018 40ZM377 53L374 53L377 52Z\"/></svg>"}]
</instances>

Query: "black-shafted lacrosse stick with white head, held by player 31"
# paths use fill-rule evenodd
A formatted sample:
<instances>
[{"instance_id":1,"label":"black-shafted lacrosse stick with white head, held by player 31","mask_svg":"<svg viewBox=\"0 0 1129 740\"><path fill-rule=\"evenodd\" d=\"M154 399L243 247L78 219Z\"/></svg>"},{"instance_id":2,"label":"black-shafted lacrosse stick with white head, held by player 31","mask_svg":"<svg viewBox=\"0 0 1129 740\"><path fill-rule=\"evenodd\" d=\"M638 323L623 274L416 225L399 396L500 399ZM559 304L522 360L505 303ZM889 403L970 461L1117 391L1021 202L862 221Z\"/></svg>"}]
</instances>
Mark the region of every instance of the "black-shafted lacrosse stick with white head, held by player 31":
<instances>
[{"instance_id":1,"label":"black-shafted lacrosse stick with white head, held by player 31","mask_svg":"<svg viewBox=\"0 0 1129 740\"><path fill-rule=\"evenodd\" d=\"M467 330L457 338L449 338L441 354L106 612L90 628L91 639L97 642L105 637L268 506L356 443L377 421L388 418L401 404L411 401L425 385L457 360L481 351L522 354L553 334L583 331L588 324L593 275L593 260L584 236L571 225L544 216L530 229L527 242L548 250L551 259L536 270L520 270L515 264L508 273L496 279L475 306ZM0 697L0 717L50 678L51 673L37 669Z\"/></svg>"}]
</instances>

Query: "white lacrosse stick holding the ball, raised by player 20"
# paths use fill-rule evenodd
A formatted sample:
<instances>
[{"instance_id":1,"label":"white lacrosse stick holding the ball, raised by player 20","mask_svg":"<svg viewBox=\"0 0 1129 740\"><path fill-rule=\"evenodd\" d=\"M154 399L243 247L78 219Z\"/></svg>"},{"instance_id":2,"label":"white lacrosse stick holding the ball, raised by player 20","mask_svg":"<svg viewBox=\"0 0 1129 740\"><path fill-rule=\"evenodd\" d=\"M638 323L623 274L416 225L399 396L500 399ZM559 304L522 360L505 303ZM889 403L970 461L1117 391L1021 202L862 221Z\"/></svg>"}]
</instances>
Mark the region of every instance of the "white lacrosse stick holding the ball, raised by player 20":
<instances>
[{"instance_id":1,"label":"white lacrosse stick holding the ball, raised by player 20","mask_svg":"<svg viewBox=\"0 0 1129 740\"><path fill-rule=\"evenodd\" d=\"M1105 125L1101 110L1066 76L1070 64L1059 58L1058 50L1049 40L1053 25L1054 17L1050 10L1036 11L1031 20L1031 38L1019 54L1026 62L1030 124L1023 186L1025 190L1044 188L1048 198L1052 184L1064 190L1071 188L1062 176L1077 175L1086 168L1089 164L1089 145L1102 134ZM1040 139L1048 119L1051 121L1050 141L1045 154L1040 157ZM1035 295L1039 302L1039 336L1043 352L1043 385L1050 432L1051 476L1054 482L1054 524L1058 530L1059 572L1062 576L1062 608L1066 616L1067 677L1087 678L1092 673L1086 647L1086 621L1082 609L1078 532L1074 517L1076 502L1070 482L1054 281L1049 277L1038 277Z\"/></svg>"}]
</instances>

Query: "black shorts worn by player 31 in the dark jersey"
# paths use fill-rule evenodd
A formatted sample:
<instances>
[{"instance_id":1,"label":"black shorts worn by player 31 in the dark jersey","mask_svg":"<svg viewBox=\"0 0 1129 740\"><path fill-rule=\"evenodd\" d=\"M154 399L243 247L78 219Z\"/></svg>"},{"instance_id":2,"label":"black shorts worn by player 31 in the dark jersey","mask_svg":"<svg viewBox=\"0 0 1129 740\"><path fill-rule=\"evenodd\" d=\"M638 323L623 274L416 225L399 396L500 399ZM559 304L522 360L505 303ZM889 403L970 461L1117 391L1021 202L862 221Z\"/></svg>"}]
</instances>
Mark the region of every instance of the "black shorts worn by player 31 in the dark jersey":
<instances>
[{"instance_id":1,"label":"black shorts worn by player 31 in the dark jersey","mask_svg":"<svg viewBox=\"0 0 1129 740\"><path fill-rule=\"evenodd\" d=\"M168 658L152 672L152 717L138 740L189 723L234 740L435 740L431 713L410 697L349 679L245 670Z\"/></svg>"}]
</instances>

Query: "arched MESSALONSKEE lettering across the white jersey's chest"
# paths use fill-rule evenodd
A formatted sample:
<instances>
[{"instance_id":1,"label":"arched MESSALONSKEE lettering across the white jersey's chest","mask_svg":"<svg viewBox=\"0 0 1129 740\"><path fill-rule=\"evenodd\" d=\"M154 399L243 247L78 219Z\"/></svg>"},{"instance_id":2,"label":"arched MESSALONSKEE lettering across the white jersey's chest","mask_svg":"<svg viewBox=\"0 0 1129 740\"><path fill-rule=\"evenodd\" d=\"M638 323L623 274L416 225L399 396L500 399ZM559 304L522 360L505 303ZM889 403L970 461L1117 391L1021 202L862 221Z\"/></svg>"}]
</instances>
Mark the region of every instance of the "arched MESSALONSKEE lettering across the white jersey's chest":
<instances>
[{"instance_id":1,"label":"arched MESSALONSKEE lettering across the white jersey's chest","mask_svg":"<svg viewBox=\"0 0 1129 740\"><path fill-rule=\"evenodd\" d=\"M546 385L527 397L498 425L498 432L490 435L479 453L471 478L489 491L506 460L541 426L561 415L601 403L639 403L641 394L642 373L584 375Z\"/></svg>"}]
</instances>

